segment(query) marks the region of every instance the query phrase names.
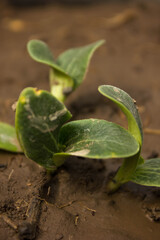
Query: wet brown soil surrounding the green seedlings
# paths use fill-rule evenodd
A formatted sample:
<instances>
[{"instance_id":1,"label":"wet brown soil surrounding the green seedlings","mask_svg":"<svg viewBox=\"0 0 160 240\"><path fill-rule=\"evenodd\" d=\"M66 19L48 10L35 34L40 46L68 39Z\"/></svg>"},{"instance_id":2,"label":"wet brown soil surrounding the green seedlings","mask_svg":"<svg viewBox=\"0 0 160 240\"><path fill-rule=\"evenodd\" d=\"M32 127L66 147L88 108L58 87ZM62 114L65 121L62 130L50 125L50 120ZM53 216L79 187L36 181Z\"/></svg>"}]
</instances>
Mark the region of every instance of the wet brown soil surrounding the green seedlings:
<instances>
[{"instance_id":1,"label":"wet brown soil surrounding the green seedlings","mask_svg":"<svg viewBox=\"0 0 160 240\"><path fill-rule=\"evenodd\" d=\"M151 1L150 1L151 2ZM128 16L132 12L132 17ZM13 8L0 3L0 121L14 124L11 105L24 87L49 89L48 68L32 61L29 39L46 41L55 56L98 39L88 75L67 100L73 119L101 118L126 126L123 114L100 96L111 84L137 100L144 126L144 158L160 155L160 4L108 1ZM108 21L121 13L124 21ZM22 154L0 151L0 239L158 240L160 189L106 182L121 160L69 158L51 178Z\"/></svg>"}]
</instances>

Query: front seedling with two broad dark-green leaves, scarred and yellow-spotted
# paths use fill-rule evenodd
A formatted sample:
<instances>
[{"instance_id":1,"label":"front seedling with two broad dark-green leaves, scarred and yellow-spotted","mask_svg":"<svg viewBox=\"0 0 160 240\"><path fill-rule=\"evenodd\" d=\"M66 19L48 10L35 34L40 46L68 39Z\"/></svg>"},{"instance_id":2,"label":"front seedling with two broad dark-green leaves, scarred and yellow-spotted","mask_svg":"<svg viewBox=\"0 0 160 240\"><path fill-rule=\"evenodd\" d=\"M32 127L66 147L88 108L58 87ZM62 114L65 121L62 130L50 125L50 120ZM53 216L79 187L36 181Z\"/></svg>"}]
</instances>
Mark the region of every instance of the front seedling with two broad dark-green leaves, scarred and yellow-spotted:
<instances>
[{"instance_id":1,"label":"front seedling with two broad dark-green leaves, scarred and yellow-spotted","mask_svg":"<svg viewBox=\"0 0 160 240\"><path fill-rule=\"evenodd\" d=\"M136 139L124 128L105 120L71 121L63 103L47 91L26 88L17 108L15 126L25 155L54 171L70 156L129 157L139 151Z\"/></svg>"}]
</instances>

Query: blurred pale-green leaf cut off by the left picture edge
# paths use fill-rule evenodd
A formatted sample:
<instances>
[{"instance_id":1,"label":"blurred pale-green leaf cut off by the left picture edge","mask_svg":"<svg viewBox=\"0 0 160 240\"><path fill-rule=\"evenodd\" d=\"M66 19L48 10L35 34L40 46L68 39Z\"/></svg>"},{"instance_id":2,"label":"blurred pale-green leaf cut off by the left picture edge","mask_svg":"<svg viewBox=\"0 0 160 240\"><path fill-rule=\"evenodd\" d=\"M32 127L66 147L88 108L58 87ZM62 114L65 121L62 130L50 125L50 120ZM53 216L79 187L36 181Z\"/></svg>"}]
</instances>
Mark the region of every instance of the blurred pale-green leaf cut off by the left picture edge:
<instances>
[{"instance_id":1,"label":"blurred pale-green leaf cut off by the left picture edge","mask_svg":"<svg viewBox=\"0 0 160 240\"><path fill-rule=\"evenodd\" d=\"M22 152L15 128L3 122L0 122L0 149L10 152Z\"/></svg>"}]
</instances>

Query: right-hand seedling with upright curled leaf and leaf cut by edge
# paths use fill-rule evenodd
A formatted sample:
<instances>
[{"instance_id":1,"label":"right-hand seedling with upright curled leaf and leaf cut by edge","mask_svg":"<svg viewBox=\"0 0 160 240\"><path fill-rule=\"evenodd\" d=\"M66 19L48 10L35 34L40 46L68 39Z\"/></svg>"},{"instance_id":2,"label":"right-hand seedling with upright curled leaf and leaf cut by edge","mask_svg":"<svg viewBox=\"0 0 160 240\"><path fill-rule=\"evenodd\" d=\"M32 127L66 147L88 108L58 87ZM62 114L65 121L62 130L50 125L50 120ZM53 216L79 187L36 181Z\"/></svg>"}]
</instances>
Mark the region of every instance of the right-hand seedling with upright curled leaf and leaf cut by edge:
<instances>
[{"instance_id":1,"label":"right-hand seedling with upright curled leaf and leaf cut by edge","mask_svg":"<svg viewBox=\"0 0 160 240\"><path fill-rule=\"evenodd\" d=\"M139 144L139 151L135 155L124 159L116 176L108 184L108 191L114 192L128 181L145 186L160 187L160 158L144 161L140 155L143 131L135 100L123 90L113 86L100 86L99 91L120 107L128 120L128 132Z\"/></svg>"}]
</instances>

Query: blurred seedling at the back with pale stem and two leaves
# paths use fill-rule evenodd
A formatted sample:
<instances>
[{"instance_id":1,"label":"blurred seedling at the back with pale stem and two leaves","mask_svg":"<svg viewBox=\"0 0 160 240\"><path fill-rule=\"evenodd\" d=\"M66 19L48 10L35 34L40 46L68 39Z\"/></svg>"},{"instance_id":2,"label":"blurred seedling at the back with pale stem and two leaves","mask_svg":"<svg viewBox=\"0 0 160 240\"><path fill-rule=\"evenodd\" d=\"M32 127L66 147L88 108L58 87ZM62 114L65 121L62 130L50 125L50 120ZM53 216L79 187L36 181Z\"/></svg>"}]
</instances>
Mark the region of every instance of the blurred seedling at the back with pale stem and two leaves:
<instances>
[{"instance_id":1,"label":"blurred seedling at the back with pale stem and two leaves","mask_svg":"<svg viewBox=\"0 0 160 240\"><path fill-rule=\"evenodd\" d=\"M27 49L35 61L50 67L51 93L64 102L66 97L82 83L93 53L104 42L100 40L87 46L69 49L57 59L54 59L47 44L40 40L29 41Z\"/></svg>"}]
</instances>

